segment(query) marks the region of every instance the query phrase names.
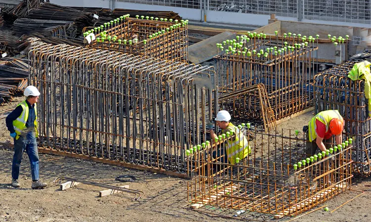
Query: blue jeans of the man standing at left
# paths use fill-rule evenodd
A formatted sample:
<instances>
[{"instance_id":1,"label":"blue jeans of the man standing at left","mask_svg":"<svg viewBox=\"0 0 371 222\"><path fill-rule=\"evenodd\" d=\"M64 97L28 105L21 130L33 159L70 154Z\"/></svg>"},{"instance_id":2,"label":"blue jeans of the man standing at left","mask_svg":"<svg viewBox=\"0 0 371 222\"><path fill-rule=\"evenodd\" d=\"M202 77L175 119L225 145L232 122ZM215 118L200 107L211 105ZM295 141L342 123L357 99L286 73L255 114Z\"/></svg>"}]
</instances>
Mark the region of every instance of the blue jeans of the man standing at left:
<instances>
[{"instance_id":1,"label":"blue jeans of the man standing at left","mask_svg":"<svg viewBox=\"0 0 371 222\"><path fill-rule=\"evenodd\" d=\"M31 164L32 180L39 180L39 151L36 143L35 132L29 132L21 136L18 140L14 139L14 156L11 167L11 177L18 180L19 170L21 168L22 154L26 150Z\"/></svg>"}]
</instances>

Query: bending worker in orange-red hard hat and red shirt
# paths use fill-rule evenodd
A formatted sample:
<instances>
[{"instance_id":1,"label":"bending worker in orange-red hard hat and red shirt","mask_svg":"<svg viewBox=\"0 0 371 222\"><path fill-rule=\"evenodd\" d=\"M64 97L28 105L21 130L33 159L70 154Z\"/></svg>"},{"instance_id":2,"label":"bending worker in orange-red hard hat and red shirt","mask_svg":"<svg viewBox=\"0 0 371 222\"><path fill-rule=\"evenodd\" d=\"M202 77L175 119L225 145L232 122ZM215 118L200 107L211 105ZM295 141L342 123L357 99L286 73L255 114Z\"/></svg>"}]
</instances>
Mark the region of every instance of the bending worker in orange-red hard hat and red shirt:
<instances>
[{"instance_id":1,"label":"bending worker in orange-red hard hat and red shirt","mask_svg":"<svg viewBox=\"0 0 371 222\"><path fill-rule=\"evenodd\" d=\"M326 151L326 144L332 144L332 135L335 135L336 144L342 143L342 131L344 119L337 110L327 110L319 112L303 127L304 133L307 133L306 153L308 155L316 154L317 148Z\"/></svg>"}]
</instances>

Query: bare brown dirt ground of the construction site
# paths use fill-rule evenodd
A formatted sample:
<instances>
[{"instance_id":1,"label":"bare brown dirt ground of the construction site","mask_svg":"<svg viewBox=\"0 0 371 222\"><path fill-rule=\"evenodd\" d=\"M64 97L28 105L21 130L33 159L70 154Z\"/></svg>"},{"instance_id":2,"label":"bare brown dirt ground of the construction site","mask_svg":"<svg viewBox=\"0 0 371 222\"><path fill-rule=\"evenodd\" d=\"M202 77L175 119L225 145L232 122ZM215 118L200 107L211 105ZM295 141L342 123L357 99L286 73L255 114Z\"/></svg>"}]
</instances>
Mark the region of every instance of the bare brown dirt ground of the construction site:
<instances>
[{"instance_id":1,"label":"bare brown dirt ground of the construction site","mask_svg":"<svg viewBox=\"0 0 371 222\"><path fill-rule=\"evenodd\" d=\"M0 113L14 109L22 98L0 107ZM289 119L278 125L279 130L300 130L313 116L307 112ZM48 184L42 190L31 189L31 170L27 154L23 155L19 182L20 188L10 186L11 162L13 151L7 147L10 137L5 126L5 118L0 125L0 222L2 221L40 221L40 222L185 222L213 221L288 221L292 218L273 219L273 215L247 212L233 219L235 210L225 210L204 206L199 210L191 210L187 205L186 179L179 179L160 174L138 171L118 166L95 163L63 156L40 154L40 177ZM78 185L61 191L53 185L58 176L78 178L109 185L129 185L130 188L144 192L139 201L132 201L131 194L120 193L98 197L98 191L104 188ZM118 182L117 176L131 176L131 182ZM369 186L370 185L370 186ZM371 194L371 178L355 177L352 189L365 191L357 199L347 203L334 213L323 209L304 215L294 221L300 222L369 222ZM320 205L331 210L360 194L349 191ZM187 205L187 206L185 206Z\"/></svg>"}]
</instances>

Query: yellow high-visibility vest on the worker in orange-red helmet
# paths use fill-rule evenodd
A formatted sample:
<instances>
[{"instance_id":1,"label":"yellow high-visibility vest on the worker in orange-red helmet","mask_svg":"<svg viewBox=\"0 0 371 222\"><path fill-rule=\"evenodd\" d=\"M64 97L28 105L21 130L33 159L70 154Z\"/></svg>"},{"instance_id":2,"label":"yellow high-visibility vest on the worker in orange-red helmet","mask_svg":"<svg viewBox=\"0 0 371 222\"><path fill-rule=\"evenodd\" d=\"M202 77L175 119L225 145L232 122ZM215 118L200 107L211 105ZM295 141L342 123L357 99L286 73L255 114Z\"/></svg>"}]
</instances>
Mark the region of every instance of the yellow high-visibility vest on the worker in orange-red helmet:
<instances>
[{"instance_id":1,"label":"yellow high-visibility vest on the worker in orange-red helmet","mask_svg":"<svg viewBox=\"0 0 371 222\"><path fill-rule=\"evenodd\" d=\"M343 117L341 117L339 111L337 110L327 110L319 112L317 115L315 115L308 123L308 129L309 129L309 141L313 142L317 138L317 125L316 125L316 119L325 124L326 126L326 132L328 131L328 127L330 125L330 121L333 118L340 119L341 122L344 122Z\"/></svg>"}]
</instances>

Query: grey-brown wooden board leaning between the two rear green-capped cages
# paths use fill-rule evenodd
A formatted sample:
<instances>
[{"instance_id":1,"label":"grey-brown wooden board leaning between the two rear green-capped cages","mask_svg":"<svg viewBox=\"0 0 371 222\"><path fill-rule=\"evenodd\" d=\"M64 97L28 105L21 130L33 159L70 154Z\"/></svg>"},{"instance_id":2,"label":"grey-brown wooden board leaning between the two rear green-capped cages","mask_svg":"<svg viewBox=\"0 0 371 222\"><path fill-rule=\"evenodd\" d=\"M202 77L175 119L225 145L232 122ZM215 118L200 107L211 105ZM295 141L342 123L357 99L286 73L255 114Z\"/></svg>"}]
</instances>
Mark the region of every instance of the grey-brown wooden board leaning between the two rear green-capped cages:
<instances>
[{"instance_id":1,"label":"grey-brown wooden board leaning between the two rear green-capped cages","mask_svg":"<svg viewBox=\"0 0 371 222\"><path fill-rule=\"evenodd\" d=\"M235 33L224 32L189 46L188 47L189 62L194 64L200 64L202 62L212 59L214 56L218 54L218 48L216 46L217 43L221 43L224 40L233 39L235 37L236 37Z\"/></svg>"}]
</instances>

